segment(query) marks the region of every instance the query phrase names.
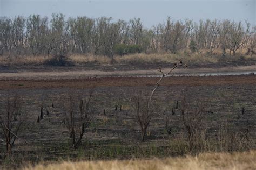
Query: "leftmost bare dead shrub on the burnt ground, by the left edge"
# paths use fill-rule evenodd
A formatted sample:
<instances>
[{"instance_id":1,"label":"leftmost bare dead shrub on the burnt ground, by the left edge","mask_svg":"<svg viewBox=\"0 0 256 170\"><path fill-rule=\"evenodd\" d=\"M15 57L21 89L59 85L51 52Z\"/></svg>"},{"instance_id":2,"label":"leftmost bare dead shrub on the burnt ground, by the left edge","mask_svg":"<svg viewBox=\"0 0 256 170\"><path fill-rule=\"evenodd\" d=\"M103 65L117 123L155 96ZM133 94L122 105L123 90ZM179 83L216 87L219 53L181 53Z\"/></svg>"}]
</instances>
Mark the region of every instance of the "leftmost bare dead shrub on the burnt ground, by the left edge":
<instances>
[{"instance_id":1,"label":"leftmost bare dead shrub on the burnt ground, by the left edge","mask_svg":"<svg viewBox=\"0 0 256 170\"><path fill-rule=\"evenodd\" d=\"M11 155L12 146L21 128L21 100L18 95L8 97L4 110L0 110L0 125L6 141L6 154Z\"/></svg>"}]
</instances>

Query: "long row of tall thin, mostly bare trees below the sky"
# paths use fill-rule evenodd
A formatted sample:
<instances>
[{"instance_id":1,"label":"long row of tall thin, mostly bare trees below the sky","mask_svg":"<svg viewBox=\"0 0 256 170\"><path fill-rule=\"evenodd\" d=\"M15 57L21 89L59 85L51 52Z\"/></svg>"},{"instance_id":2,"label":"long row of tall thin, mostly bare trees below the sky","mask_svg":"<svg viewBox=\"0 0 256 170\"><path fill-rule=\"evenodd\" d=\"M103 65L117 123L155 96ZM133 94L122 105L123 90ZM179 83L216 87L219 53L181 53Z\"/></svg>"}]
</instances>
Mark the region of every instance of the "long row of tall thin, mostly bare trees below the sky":
<instances>
[{"instance_id":1,"label":"long row of tall thin, mostly bare trees below the sky","mask_svg":"<svg viewBox=\"0 0 256 170\"><path fill-rule=\"evenodd\" d=\"M95 54L113 57L131 51L172 53L220 49L235 55L240 48L255 47L255 30L250 23L225 20L173 20L167 17L147 29L140 18L114 21L111 17L65 19L54 13L49 19L40 15L0 18L0 54L52 55ZM135 49L135 50L134 50Z\"/></svg>"}]
</instances>

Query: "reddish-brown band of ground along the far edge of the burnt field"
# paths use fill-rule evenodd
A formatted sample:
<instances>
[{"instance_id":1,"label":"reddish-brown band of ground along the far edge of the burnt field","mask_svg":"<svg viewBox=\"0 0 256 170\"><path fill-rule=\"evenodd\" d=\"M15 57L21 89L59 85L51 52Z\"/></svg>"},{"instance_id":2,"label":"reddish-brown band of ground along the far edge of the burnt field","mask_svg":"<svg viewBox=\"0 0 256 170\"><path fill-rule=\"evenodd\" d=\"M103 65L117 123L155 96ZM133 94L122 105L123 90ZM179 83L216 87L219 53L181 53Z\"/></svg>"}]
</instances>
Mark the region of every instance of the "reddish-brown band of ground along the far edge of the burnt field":
<instances>
[{"instance_id":1,"label":"reddish-brown band of ground along the far edge of the burnt field","mask_svg":"<svg viewBox=\"0 0 256 170\"><path fill-rule=\"evenodd\" d=\"M1 90L93 88L93 87L144 87L154 86L158 77L103 77L60 80L0 80ZM255 75L237 76L181 76L166 77L160 86L223 86L235 84L256 84ZM40 90L39 90L40 91Z\"/></svg>"}]
</instances>

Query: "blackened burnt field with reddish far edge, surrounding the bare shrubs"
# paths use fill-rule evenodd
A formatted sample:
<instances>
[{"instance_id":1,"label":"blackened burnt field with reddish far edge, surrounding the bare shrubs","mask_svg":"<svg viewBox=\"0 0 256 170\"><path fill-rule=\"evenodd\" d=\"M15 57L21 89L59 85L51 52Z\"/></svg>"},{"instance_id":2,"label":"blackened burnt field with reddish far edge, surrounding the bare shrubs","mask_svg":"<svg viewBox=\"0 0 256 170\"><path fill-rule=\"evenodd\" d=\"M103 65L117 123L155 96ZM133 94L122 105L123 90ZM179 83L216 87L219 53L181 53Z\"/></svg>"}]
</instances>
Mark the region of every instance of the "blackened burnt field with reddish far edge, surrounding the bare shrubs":
<instances>
[{"instance_id":1,"label":"blackened burnt field with reddish far edge, surrounding the bare shrubs","mask_svg":"<svg viewBox=\"0 0 256 170\"><path fill-rule=\"evenodd\" d=\"M14 146L16 160L38 162L63 159L127 159L134 157L163 157L183 155L176 140L184 138L185 131L180 113L171 116L172 134L165 131L163 108L171 108L183 96L210 100L207 105L207 136L215 136L221 121L228 119L237 128L256 122L256 76L168 77L161 82L154 100L160 103L150 123L146 142L140 144L139 128L133 121L129 96L134 91L149 92L158 78L100 78L73 80L10 80L0 81L1 108L4 96L17 93L22 96L26 122ZM63 118L70 93L86 95L95 88L95 116L86 130L83 145L78 150L69 148L70 138L64 128ZM75 91L74 91L75 90ZM51 108L51 102L55 107ZM44 118L36 123L44 105ZM122 111L115 111L116 104ZM49 107L50 115L45 108ZM246 114L241 115L241 109ZM104 109L106 116L103 115ZM251 132L255 139L255 129ZM1 136L1 158L4 158L4 140ZM175 146L175 147L174 147ZM181 147L181 146L180 146ZM253 141L255 149L255 141ZM2 161L3 162L3 161Z\"/></svg>"}]
</instances>

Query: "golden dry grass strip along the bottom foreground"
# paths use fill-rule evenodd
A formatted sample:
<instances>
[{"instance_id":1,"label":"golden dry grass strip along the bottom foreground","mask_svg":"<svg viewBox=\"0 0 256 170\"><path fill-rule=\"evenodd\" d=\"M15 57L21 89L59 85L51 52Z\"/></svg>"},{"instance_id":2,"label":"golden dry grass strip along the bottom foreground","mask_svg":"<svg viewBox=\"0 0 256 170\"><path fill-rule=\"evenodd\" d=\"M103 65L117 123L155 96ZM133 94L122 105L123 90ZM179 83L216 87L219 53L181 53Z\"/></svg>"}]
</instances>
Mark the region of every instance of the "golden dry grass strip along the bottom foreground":
<instances>
[{"instance_id":1,"label":"golden dry grass strip along the bottom foreground","mask_svg":"<svg viewBox=\"0 0 256 170\"><path fill-rule=\"evenodd\" d=\"M256 151L241 153L203 153L196 157L165 159L61 162L36 165L28 169L255 169Z\"/></svg>"}]
</instances>

